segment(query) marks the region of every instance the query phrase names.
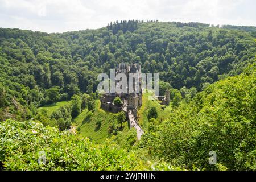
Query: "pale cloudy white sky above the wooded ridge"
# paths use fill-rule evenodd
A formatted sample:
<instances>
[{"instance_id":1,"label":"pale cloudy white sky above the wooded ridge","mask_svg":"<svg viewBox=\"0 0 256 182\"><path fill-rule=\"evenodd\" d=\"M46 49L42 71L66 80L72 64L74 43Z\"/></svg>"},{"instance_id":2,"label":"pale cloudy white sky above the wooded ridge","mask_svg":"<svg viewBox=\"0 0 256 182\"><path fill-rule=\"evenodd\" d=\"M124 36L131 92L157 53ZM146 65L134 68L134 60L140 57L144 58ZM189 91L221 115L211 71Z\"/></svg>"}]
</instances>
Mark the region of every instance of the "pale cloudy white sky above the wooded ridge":
<instances>
[{"instance_id":1,"label":"pale cloudy white sky above the wooded ridge","mask_svg":"<svg viewBox=\"0 0 256 182\"><path fill-rule=\"evenodd\" d=\"M0 27L52 33L129 19L256 26L255 7L255 0L0 0Z\"/></svg>"}]
</instances>

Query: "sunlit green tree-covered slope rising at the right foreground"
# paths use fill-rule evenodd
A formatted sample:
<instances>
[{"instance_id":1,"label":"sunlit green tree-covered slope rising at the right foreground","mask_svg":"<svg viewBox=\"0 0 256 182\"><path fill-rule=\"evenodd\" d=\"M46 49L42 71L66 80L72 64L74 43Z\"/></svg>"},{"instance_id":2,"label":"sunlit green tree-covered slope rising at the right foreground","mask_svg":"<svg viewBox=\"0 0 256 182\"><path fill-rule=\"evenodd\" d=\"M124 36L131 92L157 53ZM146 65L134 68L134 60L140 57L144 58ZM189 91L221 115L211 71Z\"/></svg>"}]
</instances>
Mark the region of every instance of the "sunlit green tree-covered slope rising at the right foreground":
<instances>
[{"instance_id":1,"label":"sunlit green tree-covered slope rising at the right foreground","mask_svg":"<svg viewBox=\"0 0 256 182\"><path fill-rule=\"evenodd\" d=\"M143 135L148 155L192 169L255 170L256 69L209 85ZM209 152L218 165L210 165Z\"/></svg>"}]
</instances>

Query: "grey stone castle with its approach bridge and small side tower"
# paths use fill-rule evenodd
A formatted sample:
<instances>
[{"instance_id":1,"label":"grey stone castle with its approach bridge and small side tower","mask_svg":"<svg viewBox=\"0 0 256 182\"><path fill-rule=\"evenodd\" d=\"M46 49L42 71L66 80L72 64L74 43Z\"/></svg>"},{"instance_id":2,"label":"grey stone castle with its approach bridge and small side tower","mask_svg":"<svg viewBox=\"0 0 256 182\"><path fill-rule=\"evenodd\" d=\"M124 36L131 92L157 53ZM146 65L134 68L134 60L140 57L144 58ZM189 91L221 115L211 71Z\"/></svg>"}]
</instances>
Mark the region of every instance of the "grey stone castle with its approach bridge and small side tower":
<instances>
[{"instance_id":1,"label":"grey stone castle with its approach bridge and small side tower","mask_svg":"<svg viewBox=\"0 0 256 182\"><path fill-rule=\"evenodd\" d=\"M117 93L115 91L114 93L104 93L103 96L100 97L101 109L113 113L124 111L126 113L126 117L128 118L129 126L135 127L135 130L137 132L137 139L139 140L141 139L141 136L144 134L143 129L141 128L141 126L139 126L139 123L137 122L137 111L139 107L142 106L141 66L138 64L120 63L117 65L117 68L115 68L115 77L118 73L123 73L124 75L126 75L127 80L125 88L123 89L119 88L119 86L123 86L123 83L120 84L120 80L115 79L115 90L125 90L125 92ZM132 81L129 82L129 73L137 73L138 77L133 77ZM121 106L117 106L113 103L115 97L121 98L123 102ZM170 90L166 90L166 96L158 96L158 100L162 101L160 103L162 105L169 105Z\"/></svg>"}]
</instances>

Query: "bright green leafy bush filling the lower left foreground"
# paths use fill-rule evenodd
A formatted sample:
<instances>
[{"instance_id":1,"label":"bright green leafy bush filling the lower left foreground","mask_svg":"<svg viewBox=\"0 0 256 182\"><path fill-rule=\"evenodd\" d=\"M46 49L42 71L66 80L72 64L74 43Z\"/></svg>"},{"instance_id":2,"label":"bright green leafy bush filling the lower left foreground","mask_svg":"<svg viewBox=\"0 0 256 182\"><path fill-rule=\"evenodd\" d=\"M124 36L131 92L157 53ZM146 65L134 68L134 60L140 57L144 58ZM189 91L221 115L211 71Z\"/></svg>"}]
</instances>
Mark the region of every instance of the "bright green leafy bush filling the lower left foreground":
<instances>
[{"instance_id":1,"label":"bright green leafy bush filling the lower left foreground","mask_svg":"<svg viewBox=\"0 0 256 182\"><path fill-rule=\"evenodd\" d=\"M0 123L0 162L7 170L139 169L133 152L98 145L69 131L60 132L35 121ZM42 152L46 164L39 164Z\"/></svg>"}]
</instances>

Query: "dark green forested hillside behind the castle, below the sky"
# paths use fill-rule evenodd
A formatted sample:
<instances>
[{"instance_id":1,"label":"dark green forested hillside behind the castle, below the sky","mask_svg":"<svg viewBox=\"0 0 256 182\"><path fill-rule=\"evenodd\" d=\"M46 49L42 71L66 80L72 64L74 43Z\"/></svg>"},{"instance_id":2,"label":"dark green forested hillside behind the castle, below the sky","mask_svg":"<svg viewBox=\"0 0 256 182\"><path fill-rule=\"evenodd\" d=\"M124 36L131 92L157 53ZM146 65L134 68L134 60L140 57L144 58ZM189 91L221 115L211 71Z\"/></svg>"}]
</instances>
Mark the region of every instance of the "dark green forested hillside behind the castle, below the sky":
<instances>
[{"instance_id":1,"label":"dark green forested hillside behind the castle, below the sky","mask_svg":"<svg viewBox=\"0 0 256 182\"><path fill-rule=\"evenodd\" d=\"M251 32L203 23L122 21L63 34L1 28L0 87L6 100L0 106L9 107L1 117L22 112L28 118L35 107L96 92L98 73L109 73L121 61L159 73L174 89L201 90L253 63L254 39ZM16 101L27 109L17 112Z\"/></svg>"}]
</instances>

